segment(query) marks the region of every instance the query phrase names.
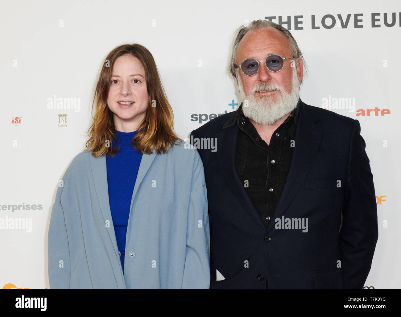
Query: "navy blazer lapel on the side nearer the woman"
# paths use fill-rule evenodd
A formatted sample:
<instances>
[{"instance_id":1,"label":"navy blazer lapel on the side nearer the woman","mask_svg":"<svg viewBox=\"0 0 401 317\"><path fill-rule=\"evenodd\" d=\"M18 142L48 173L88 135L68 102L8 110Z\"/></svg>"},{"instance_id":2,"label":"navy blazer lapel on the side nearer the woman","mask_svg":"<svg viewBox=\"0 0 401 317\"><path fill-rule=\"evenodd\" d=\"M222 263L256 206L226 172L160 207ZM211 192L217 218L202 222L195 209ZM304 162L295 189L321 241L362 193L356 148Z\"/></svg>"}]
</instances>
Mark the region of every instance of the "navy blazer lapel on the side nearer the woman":
<instances>
[{"instance_id":1,"label":"navy blazer lapel on the side nearer the woman","mask_svg":"<svg viewBox=\"0 0 401 317\"><path fill-rule=\"evenodd\" d=\"M217 157L219 167L223 177L227 183L227 187L231 190L234 197L241 203L249 215L261 226L263 229L265 225L259 217L259 213L255 209L249 195L245 191L244 184L241 182L237 171L235 170L235 148L237 145L238 136L237 122L233 126L225 128L218 134L218 142L220 150L217 150Z\"/></svg>"}]
</instances>

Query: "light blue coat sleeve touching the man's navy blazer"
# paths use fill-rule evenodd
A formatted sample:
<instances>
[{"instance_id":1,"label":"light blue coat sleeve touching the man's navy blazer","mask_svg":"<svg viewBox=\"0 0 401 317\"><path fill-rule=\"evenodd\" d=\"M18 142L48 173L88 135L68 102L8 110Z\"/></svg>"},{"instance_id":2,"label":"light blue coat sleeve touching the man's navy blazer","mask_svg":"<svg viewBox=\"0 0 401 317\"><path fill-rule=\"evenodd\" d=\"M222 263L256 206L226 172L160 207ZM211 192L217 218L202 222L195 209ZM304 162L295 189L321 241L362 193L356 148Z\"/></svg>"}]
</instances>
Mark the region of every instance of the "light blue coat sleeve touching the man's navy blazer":
<instances>
[{"instance_id":1,"label":"light blue coat sleeve touching the man's navy blazer","mask_svg":"<svg viewBox=\"0 0 401 317\"><path fill-rule=\"evenodd\" d=\"M197 150L188 207L186 256L182 289L209 289L210 236L205 174Z\"/></svg>"}]
</instances>

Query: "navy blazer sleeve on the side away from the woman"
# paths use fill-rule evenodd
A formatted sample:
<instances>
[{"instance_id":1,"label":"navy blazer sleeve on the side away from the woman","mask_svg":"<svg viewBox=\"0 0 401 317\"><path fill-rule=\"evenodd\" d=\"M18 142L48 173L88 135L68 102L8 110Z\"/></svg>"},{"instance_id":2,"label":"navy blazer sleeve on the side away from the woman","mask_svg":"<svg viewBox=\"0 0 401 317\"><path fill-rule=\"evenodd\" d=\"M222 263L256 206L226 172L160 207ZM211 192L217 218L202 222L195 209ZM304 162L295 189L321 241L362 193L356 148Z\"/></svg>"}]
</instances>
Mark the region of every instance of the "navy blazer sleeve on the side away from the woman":
<instances>
[{"instance_id":1,"label":"navy blazer sleeve on the side away from the woman","mask_svg":"<svg viewBox=\"0 0 401 317\"><path fill-rule=\"evenodd\" d=\"M371 269L378 228L373 175L358 120L354 121L351 133L342 215L342 287L362 289Z\"/></svg>"}]
</instances>

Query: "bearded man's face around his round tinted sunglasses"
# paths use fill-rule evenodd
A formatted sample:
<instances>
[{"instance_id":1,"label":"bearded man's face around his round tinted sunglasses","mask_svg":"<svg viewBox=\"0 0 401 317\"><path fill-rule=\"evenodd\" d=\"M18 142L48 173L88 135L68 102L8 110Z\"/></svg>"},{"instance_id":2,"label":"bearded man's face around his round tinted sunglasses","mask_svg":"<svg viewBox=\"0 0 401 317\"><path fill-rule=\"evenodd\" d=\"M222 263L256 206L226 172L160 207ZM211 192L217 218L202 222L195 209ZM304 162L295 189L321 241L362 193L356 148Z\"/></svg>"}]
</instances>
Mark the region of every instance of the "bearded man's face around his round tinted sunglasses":
<instances>
[{"instance_id":1,"label":"bearded man's face around his round tinted sunglasses","mask_svg":"<svg viewBox=\"0 0 401 317\"><path fill-rule=\"evenodd\" d=\"M249 31L237 47L237 65L247 58L264 61L272 54L292 56L287 37L272 27ZM238 68L239 92L249 102L249 109L243 108L244 114L255 122L273 124L291 112L299 98L302 67L302 59L298 58L295 63L285 59L284 67L278 72L269 71L263 62L253 76L246 76Z\"/></svg>"}]
</instances>

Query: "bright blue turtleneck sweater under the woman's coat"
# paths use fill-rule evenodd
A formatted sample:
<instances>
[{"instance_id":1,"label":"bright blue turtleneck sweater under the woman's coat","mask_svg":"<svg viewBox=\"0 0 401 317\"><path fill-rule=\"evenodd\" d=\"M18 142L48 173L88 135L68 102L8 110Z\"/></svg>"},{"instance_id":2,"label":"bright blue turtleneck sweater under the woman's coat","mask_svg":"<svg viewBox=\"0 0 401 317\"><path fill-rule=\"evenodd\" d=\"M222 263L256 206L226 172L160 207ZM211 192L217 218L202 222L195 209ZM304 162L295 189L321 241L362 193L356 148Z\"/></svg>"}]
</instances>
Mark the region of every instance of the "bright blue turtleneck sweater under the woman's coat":
<instances>
[{"instance_id":1,"label":"bright blue turtleneck sweater under the woman's coat","mask_svg":"<svg viewBox=\"0 0 401 317\"><path fill-rule=\"evenodd\" d=\"M117 143L113 148L120 146L114 157L106 157L107 186L109 189L109 204L111 218L113 219L115 238L118 250L121 253L120 260L124 273L124 254L127 235L128 217L136 176L142 154L130 145L134 132L120 132L115 130Z\"/></svg>"}]
</instances>

